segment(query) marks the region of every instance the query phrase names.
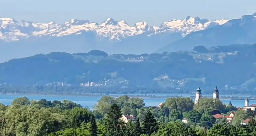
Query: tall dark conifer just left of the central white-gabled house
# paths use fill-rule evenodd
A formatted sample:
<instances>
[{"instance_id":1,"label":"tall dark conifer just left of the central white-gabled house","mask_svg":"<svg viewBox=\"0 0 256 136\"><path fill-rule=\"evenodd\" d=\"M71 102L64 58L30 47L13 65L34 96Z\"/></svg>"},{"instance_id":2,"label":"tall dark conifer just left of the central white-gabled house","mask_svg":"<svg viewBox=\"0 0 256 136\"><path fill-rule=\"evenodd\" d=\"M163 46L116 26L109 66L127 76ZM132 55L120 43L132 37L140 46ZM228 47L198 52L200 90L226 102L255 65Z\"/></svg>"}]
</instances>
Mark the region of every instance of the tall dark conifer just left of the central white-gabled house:
<instances>
[{"instance_id":1,"label":"tall dark conifer just left of the central white-gabled house","mask_svg":"<svg viewBox=\"0 0 256 136\"><path fill-rule=\"evenodd\" d=\"M104 124L106 126L107 136L119 136L121 132L121 126L123 122L120 120L122 117L121 110L117 104L111 105L109 111L104 117Z\"/></svg>"}]
</instances>

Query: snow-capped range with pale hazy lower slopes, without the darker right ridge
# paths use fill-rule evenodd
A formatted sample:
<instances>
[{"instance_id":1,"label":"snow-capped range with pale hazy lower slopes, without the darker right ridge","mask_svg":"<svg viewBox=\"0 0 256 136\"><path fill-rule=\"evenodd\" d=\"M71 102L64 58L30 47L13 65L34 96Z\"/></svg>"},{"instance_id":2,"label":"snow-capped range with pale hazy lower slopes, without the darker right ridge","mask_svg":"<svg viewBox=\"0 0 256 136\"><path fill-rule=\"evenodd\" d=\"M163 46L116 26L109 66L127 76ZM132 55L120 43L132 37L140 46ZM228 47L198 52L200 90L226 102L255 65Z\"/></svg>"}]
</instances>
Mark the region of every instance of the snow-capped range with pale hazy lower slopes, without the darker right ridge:
<instances>
[{"instance_id":1,"label":"snow-capped range with pale hazy lower slopes, without the darker right ridge","mask_svg":"<svg viewBox=\"0 0 256 136\"><path fill-rule=\"evenodd\" d=\"M107 18L101 23L71 19L63 24L37 23L0 18L0 62L40 53L88 52L109 54L152 53L189 33L221 25L228 20L209 21L199 17L163 22L159 27L141 21L134 25ZM135 50L134 50L135 49Z\"/></svg>"}]
</instances>

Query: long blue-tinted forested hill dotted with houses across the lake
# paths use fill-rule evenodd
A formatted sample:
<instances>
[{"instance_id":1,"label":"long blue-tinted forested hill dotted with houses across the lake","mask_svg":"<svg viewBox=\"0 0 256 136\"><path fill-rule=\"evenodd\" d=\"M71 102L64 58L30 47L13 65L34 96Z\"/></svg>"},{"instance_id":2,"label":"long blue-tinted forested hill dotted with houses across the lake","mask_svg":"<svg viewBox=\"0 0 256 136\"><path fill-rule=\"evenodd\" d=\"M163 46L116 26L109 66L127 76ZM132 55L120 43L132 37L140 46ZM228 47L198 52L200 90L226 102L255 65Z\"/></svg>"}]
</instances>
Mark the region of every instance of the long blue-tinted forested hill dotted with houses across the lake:
<instances>
[{"instance_id":1,"label":"long blue-tinted forested hill dotted with houses across the lake","mask_svg":"<svg viewBox=\"0 0 256 136\"><path fill-rule=\"evenodd\" d=\"M227 90L223 93L252 93L256 87L255 52L256 45L230 45L162 54L108 55L99 50L38 54L0 64L0 84L175 93L195 91L200 84L209 92L218 85Z\"/></svg>"}]
</instances>

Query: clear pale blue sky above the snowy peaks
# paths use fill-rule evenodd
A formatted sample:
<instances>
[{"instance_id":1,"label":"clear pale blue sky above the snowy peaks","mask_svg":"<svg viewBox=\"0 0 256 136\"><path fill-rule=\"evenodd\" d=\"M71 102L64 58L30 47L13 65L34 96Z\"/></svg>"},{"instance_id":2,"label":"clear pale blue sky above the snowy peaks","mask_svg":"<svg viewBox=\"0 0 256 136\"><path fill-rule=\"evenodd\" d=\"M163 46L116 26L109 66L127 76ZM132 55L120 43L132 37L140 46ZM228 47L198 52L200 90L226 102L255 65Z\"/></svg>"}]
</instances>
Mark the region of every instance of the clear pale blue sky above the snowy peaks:
<instances>
[{"instance_id":1,"label":"clear pale blue sky above the snowy peaks","mask_svg":"<svg viewBox=\"0 0 256 136\"><path fill-rule=\"evenodd\" d=\"M256 12L256 0L1 0L0 16L36 22L64 23L70 19L103 22L111 17L130 25L146 21L200 18L233 19Z\"/></svg>"}]
</instances>

